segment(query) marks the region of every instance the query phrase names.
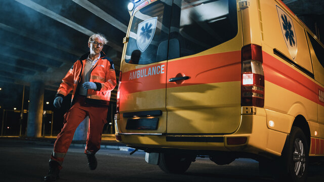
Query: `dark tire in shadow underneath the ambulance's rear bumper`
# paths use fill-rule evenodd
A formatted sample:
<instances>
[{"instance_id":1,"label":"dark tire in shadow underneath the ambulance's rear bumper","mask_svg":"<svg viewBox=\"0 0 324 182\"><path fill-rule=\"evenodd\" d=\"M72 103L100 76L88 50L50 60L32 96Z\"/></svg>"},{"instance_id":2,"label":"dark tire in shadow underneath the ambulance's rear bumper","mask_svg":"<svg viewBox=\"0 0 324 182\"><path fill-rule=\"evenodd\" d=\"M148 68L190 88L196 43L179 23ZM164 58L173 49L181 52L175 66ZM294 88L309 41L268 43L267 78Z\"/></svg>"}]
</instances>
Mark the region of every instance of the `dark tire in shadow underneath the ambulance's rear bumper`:
<instances>
[{"instance_id":1,"label":"dark tire in shadow underneath the ambulance's rear bumper","mask_svg":"<svg viewBox=\"0 0 324 182\"><path fill-rule=\"evenodd\" d=\"M184 173L190 166L192 156L182 154L161 153L158 166L166 173Z\"/></svg>"}]
</instances>

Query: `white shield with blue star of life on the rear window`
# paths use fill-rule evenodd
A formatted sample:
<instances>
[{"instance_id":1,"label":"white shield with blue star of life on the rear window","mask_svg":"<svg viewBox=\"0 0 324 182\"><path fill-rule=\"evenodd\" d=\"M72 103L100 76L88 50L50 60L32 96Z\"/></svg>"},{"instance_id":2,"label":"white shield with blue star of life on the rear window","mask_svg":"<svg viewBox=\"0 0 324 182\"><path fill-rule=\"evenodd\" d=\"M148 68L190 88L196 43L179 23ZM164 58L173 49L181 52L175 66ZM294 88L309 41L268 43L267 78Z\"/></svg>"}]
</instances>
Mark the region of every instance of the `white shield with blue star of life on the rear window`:
<instances>
[{"instance_id":1,"label":"white shield with blue star of life on the rear window","mask_svg":"<svg viewBox=\"0 0 324 182\"><path fill-rule=\"evenodd\" d=\"M156 22L157 17L153 17L138 24L136 43L141 52L144 52L151 43L156 29Z\"/></svg>"}]
</instances>

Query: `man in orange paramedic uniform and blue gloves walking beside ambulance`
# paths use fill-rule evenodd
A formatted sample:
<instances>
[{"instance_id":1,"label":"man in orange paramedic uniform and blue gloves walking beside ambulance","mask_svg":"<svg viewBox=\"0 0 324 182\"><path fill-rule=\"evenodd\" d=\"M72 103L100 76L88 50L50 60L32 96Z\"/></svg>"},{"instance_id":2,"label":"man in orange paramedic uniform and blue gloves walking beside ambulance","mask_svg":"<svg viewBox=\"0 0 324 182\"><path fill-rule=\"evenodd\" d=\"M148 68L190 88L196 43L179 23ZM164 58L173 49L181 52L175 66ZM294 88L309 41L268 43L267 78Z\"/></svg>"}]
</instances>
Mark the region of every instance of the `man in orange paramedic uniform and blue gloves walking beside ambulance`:
<instances>
[{"instance_id":1,"label":"man in orange paramedic uniform and blue gloves walking beside ambulance","mask_svg":"<svg viewBox=\"0 0 324 182\"><path fill-rule=\"evenodd\" d=\"M102 52L107 39L101 34L90 36L90 52L78 59L62 79L54 106L60 108L63 98L72 90L71 108L64 115L64 125L57 135L49 162L49 173L45 181L59 178L64 156L72 142L77 126L89 116L89 129L85 154L89 168L96 169L96 152L100 149L101 134L107 122L110 92L116 86L116 75L112 60Z\"/></svg>"}]
</instances>

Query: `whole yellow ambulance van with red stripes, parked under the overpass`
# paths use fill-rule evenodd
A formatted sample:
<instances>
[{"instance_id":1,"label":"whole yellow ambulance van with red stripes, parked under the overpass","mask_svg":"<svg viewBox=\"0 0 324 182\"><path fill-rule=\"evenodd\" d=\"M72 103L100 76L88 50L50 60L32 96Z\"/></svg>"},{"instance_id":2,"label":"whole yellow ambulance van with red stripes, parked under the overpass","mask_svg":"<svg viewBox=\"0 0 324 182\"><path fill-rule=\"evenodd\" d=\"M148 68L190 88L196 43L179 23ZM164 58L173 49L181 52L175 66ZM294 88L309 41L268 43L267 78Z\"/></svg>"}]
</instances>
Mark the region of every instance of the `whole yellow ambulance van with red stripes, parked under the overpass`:
<instances>
[{"instance_id":1,"label":"whole yellow ambulance van with red stripes, parked under the overpass","mask_svg":"<svg viewBox=\"0 0 324 182\"><path fill-rule=\"evenodd\" d=\"M183 173L196 157L259 161L305 181L324 156L324 48L280 0L129 6L116 140ZM271 173L271 174L272 174Z\"/></svg>"}]
</instances>

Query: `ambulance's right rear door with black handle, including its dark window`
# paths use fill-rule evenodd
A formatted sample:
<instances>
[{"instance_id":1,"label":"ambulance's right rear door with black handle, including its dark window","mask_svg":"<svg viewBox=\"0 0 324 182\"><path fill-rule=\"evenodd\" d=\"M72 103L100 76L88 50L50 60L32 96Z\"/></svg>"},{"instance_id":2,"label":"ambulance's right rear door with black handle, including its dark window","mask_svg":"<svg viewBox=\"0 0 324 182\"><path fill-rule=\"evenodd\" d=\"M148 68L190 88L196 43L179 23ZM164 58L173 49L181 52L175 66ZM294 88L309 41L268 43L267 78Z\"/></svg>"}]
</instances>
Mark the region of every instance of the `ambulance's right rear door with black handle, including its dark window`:
<instances>
[{"instance_id":1,"label":"ambulance's right rear door with black handle, including its dark window","mask_svg":"<svg viewBox=\"0 0 324 182\"><path fill-rule=\"evenodd\" d=\"M167 133L232 133L240 123L236 1L174 1L167 72Z\"/></svg>"}]
</instances>

